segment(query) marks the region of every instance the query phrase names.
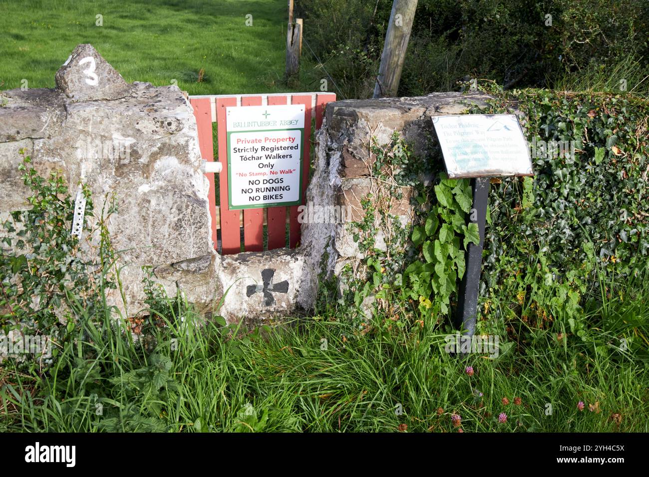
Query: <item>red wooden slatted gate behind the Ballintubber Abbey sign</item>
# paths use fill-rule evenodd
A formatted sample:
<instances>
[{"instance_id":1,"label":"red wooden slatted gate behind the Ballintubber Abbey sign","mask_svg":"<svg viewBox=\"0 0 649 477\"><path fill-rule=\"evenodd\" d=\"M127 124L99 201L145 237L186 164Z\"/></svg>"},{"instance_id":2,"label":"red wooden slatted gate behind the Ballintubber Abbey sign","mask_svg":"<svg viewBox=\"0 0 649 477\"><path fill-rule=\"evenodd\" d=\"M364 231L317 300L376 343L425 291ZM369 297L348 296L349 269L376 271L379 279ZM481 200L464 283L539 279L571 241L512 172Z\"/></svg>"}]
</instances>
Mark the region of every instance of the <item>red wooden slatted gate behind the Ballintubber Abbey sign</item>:
<instances>
[{"instance_id":1,"label":"red wooden slatted gate behind the Ballintubber Abbey sign","mask_svg":"<svg viewBox=\"0 0 649 477\"><path fill-rule=\"evenodd\" d=\"M217 234L221 231L221 254L241 252L241 227L243 227L243 251L263 250L263 226L267 226L268 250L286 247L286 225L288 224L288 245L295 248L300 240L300 224L297 221L298 206L269 207L244 210L230 210L228 207L228 153L225 130L225 108L228 106L273 106L275 104L304 104L304 147L302 151L302 204L306 199L309 184L311 153L311 119L315 117L315 129L323 122L324 106L336 101L334 93L273 93L265 95L207 95L190 96L199 133L201 156L214 161L214 138L212 123L217 123L217 160L221 162L219 175L219 204L216 205L214 174L206 174L210 180L210 214L212 215L212 240L217 248ZM307 139L308 138L308 139ZM287 210L288 209L288 210Z\"/></svg>"}]
</instances>

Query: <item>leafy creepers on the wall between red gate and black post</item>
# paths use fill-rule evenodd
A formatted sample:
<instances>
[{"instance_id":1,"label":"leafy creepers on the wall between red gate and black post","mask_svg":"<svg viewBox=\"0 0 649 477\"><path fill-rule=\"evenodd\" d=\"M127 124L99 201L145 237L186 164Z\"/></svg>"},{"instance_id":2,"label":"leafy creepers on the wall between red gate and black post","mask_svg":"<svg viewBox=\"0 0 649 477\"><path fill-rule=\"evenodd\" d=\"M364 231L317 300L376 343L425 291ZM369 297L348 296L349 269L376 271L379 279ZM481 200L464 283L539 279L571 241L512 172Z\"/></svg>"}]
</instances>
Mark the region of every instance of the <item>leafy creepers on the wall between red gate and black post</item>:
<instances>
[{"instance_id":1,"label":"leafy creepers on the wall between red gate and black post","mask_svg":"<svg viewBox=\"0 0 649 477\"><path fill-rule=\"evenodd\" d=\"M450 312L458 280L465 272L467 245L479 241L478 226L467 225L471 186L468 180L449 179L441 173L436 154L415 157L398 132L387 145L373 139L371 153L376 156L373 191L361 200L363 219L349 224L364 259L356 279L350 265L343 270L349 284L343 300L353 299L361 308L368 297L374 297L377 315L387 317L387 326L402 328L414 321L421 325ZM434 186L423 185L426 174L437 176ZM413 229L390 214L393 200L403 198L404 186L415 191ZM385 250L376 247L378 236ZM367 321L367 313L361 313L361 321ZM367 330L367 324L360 324Z\"/></svg>"}]
</instances>

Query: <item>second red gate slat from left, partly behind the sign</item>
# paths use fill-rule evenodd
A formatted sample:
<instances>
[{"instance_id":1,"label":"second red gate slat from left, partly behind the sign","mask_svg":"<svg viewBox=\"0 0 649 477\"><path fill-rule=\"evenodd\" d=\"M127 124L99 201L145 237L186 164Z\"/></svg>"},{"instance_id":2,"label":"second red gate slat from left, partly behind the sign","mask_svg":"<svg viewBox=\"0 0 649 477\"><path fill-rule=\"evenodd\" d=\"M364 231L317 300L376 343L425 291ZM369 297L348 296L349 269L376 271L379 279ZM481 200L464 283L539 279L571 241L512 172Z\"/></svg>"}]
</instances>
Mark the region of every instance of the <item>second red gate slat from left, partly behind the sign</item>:
<instances>
[{"instance_id":1,"label":"second red gate slat from left, partly behind the sign","mask_svg":"<svg viewBox=\"0 0 649 477\"><path fill-rule=\"evenodd\" d=\"M225 131L225 108L236 105L236 97L216 99L216 119L219 130L219 161L223 166L219 175L219 197L221 197L221 253L223 255L241 252L239 210L230 210L228 202L228 145Z\"/></svg>"}]
</instances>

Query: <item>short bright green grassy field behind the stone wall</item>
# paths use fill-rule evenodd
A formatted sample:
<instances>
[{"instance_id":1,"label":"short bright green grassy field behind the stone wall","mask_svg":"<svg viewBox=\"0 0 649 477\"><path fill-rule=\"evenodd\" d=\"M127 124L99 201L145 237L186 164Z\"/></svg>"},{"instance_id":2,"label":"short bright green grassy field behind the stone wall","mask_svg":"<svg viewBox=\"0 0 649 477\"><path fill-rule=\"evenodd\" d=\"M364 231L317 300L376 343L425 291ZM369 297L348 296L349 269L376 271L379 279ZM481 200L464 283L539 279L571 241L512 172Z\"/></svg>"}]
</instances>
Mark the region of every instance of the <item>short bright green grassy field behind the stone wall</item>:
<instances>
[{"instance_id":1,"label":"short bright green grassy field behind the stone wall","mask_svg":"<svg viewBox=\"0 0 649 477\"><path fill-rule=\"evenodd\" d=\"M1 0L0 12L1 90L23 79L53 88L74 47L92 43L129 82L176 79L192 95L291 91L281 81L286 1Z\"/></svg>"}]
</instances>

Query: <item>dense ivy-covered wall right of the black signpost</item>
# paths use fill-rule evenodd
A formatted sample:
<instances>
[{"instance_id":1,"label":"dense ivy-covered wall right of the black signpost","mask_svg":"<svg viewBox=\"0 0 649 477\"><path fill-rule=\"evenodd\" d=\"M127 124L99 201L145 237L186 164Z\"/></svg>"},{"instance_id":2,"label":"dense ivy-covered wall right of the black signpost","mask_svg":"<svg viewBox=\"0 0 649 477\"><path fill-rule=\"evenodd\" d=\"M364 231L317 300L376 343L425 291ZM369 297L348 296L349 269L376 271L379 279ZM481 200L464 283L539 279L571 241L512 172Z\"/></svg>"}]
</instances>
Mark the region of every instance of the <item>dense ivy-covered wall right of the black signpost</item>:
<instances>
[{"instance_id":1,"label":"dense ivy-covered wall right of the black signpost","mask_svg":"<svg viewBox=\"0 0 649 477\"><path fill-rule=\"evenodd\" d=\"M649 267L649 103L526 90L472 112L524 112L535 177L493 180L482 315L580 332L599 280ZM553 142L554 141L554 142Z\"/></svg>"}]
</instances>

